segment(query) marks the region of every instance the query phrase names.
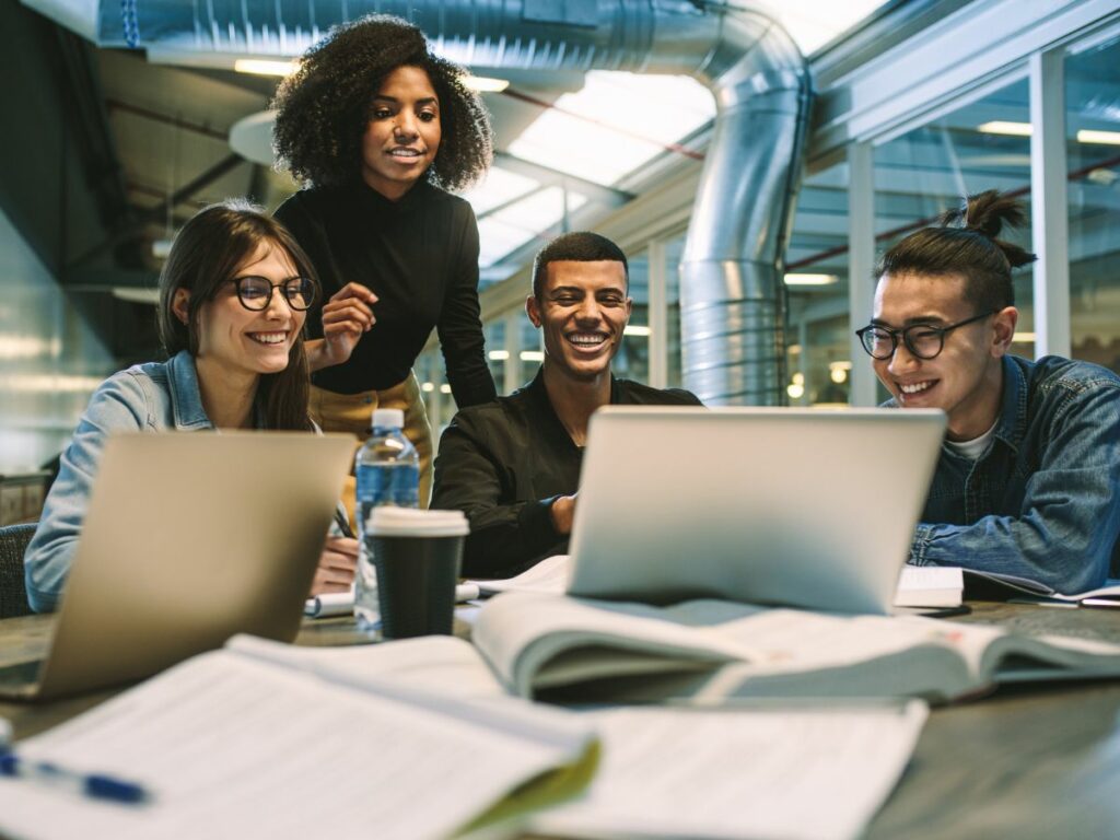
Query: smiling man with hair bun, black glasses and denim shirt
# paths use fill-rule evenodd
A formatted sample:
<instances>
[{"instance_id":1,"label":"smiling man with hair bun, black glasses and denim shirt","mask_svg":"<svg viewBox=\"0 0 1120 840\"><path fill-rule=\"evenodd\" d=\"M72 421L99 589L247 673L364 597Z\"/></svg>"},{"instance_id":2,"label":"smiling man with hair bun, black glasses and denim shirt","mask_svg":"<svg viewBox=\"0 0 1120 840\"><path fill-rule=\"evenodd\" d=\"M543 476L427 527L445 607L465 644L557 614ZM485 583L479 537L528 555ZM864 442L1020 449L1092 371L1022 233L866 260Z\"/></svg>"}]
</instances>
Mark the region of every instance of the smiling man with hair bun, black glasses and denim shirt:
<instances>
[{"instance_id":1,"label":"smiling man with hair bun, black glasses and denim shirt","mask_svg":"<svg viewBox=\"0 0 1120 840\"><path fill-rule=\"evenodd\" d=\"M1023 221L1020 202L989 190L900 241L857 335L888 405L948 414L909 561L1072 594L1120 573L1120 377L1009 354L1011 270L1035 255L998 236Z\"/></svg>"}]
</instances>

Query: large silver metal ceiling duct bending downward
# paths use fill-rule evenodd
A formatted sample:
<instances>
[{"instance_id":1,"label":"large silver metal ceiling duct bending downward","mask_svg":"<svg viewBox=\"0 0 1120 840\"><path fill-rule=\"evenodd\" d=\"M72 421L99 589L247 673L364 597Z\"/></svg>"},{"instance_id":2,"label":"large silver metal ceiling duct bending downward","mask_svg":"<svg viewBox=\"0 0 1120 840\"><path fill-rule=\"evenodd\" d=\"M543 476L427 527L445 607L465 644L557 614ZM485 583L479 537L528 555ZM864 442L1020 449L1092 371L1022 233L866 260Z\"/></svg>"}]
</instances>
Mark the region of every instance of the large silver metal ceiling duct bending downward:
<instances>
[{"instance_id":1,"label":"large silver metal ceiling duct bending downward","mask_svg":"<svg viewBox=\"0 0 1120 840\"><path fill-rule=\"evenodd\" d=\"M295 56L371 12L411 20L473 67L691 75L717 102L681 264L684 385L709 404L780 404L782 261L812 97L788 35L758 11L679 0L25 0L102 46ZM672 103L666 103L672 108Z\"/></svg>"}]
</instances>

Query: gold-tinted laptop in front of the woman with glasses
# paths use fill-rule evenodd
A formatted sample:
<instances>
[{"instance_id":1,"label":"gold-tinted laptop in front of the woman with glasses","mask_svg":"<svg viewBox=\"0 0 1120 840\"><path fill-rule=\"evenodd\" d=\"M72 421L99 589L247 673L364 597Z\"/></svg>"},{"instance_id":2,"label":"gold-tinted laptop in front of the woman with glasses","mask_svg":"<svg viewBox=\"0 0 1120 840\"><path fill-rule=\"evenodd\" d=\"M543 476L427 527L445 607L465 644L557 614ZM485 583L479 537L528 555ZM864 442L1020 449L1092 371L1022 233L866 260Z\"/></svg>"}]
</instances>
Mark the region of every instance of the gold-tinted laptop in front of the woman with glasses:
<instances>
[{"instance_id":1,"label":"gold-tinted laptop in front of the woman with glasses","mask_svg":"<svg viewBox=\"0 0 1120 840\"><path fill-rule=\"evenodd\" d=\"M234 633L291 641L354 455L346 435L112 437L46 659L0 696L131 682Z\"/></svg>"}]
</instances>

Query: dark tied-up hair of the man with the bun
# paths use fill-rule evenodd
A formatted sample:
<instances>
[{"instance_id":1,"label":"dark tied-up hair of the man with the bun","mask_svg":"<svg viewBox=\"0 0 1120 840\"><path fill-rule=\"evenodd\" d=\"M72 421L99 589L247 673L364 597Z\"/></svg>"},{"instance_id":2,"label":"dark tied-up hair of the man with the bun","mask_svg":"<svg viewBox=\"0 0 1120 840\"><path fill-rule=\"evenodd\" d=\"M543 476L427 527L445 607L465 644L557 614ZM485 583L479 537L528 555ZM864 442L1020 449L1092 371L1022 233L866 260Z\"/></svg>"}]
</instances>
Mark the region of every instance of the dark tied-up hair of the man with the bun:
<instances>
[{"instance_id":1,"label":"dark tied-up hair of the man with the bun","mask_svg":"<svg viewBox=\"0 0 1120 840\"><path fill-rule=\"evenodd\" d=\"M969 196L963 207L902 240L879 259L875 276L927 274L963 277L964 293L977 311L1015 306L1011 270L1034 262L1035 255L999 239L1004 226L1024 223L1023 202L995 189Z\"/></svg>"}]
</instances>

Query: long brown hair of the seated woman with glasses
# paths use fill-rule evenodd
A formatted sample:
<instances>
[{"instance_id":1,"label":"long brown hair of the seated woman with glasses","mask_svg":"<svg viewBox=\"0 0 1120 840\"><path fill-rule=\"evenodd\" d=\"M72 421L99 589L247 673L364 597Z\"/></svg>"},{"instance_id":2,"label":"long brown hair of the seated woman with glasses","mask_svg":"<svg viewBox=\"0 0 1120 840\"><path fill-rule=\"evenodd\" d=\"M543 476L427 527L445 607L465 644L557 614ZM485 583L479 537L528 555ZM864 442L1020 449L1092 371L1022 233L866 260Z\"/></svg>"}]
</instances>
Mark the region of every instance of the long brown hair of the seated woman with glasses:
<instances>
[{"instance_id":1,"label":"long brown hair of the seated woman with glasses","mask_svg":"<svg viewBox=\"0 0 1120 840\"><path fill-rule=\"evenodd\" d=\"M311 261L288 233L287 228L264 212L243 200L212 204L200 209L175 237L167 263L159 276L159 337L168 356L180 351L198 355L198 319L203 306L213 300L226 282L233 280L241 265L261 243L268 242L284 251L300 277L319 281ZM187 289L187 323L171 309L177 289ZM307 407L310 392L310 370L304 348L304 332L288 356L288 366L279 373L261 375L255 405L263 416L265 428L310 430Z\"/></svg>"}]
</instances>

